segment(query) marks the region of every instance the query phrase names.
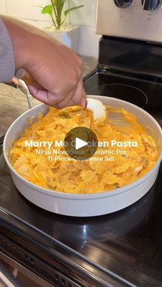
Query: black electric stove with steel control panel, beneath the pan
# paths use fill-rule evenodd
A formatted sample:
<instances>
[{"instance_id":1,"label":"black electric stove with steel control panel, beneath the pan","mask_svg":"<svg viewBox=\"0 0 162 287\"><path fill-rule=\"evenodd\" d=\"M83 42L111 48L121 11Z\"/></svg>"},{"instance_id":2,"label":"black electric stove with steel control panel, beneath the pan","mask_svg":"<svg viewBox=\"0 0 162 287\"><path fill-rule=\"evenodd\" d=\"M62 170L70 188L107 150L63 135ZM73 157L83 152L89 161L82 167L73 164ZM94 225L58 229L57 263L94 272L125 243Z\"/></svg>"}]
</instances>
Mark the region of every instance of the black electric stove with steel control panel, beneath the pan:
<instances>
[{"instance_id":1,"label":"black electric stove with steel control panel, beneath the pan","mask_svg":"<svg viewBox=\"0 0 162 287\"><path fill-rule=\"evenodd\" d=\"M102 1L99 14L101 2L106 5ZM155 2L159 9L162 1ZM118 5L129 12L137 3L115 0L115 13ZM145 15L153 7L148 3L143 1ZM156 11L149 10L149 17ZM100 27L97 18L98 32ZM141 40L137 34L134 39L122 32L104 34L98 65L84 77L86 93L130 101L162 126L161 44L146 42L147 35ZM139 201L113 214L81 219L27 201L3 159L3 138L0 145L0 250L5 260L21 264L50 286L162 286L162 165L154 186Z\"/></svg>"}]
</instances>

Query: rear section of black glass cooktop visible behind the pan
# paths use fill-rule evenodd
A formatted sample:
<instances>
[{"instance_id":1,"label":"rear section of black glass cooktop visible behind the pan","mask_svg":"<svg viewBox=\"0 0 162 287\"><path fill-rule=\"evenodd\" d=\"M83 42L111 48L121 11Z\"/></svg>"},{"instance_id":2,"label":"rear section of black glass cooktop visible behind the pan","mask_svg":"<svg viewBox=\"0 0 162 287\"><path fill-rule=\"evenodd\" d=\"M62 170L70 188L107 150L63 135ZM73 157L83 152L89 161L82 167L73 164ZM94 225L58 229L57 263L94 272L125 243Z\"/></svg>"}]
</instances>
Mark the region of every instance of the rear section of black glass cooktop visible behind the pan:
<instances>
[{"instance_id":1,"label":"rear section of black glass cooktop visible behind the pan","mask_svg":"<svg viewBox=\"0 0 162 287\"><path fill-rule=\"evenodd\" d=\"M96 71L84 81L87 95L102 95L129 101L150 112L162 126L162 83Z\"/></svg>"}]
</instances>

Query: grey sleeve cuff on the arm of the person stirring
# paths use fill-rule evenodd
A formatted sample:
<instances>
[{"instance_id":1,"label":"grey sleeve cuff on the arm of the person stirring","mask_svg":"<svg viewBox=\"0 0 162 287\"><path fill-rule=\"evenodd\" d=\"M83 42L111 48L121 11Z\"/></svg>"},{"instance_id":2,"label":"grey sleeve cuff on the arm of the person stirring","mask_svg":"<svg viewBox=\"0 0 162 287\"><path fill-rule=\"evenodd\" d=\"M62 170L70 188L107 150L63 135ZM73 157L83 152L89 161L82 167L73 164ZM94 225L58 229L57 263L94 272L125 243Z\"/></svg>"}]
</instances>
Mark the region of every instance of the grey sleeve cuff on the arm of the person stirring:
<instances>
[{"instance_id":1,"label":"grey sleeve cuff on the arm of the person stirring","mask_svg":"<svg viewBox=\"0 0 162 287\"><path fill-rule=\"evenodd\" d=\"M8 29L0 18L0 82L10 82L14 77L14 49Z\"/></svg>"}]
</instances>

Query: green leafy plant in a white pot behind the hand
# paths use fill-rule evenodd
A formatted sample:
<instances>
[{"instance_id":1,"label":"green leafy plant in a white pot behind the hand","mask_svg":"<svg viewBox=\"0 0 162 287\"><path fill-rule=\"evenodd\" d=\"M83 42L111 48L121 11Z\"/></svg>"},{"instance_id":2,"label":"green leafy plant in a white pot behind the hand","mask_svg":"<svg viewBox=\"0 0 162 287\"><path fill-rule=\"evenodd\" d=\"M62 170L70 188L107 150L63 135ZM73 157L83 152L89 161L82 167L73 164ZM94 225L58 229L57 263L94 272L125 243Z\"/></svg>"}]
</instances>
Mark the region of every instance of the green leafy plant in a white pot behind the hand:
<instances>
[{"instance_id":1,"label":"green leafy plant in a white pot behind the hand","mask_svg":"<svg viewBox=\"0 0 162 287\"><path fill-rule=\"evenodd\" d=\"M74 51L77 51L78 26L67 24L65 21L69 12L82 8L83 5L65 10L66 1L67 0L51 0L51 5L39 7L41 8L41 13L49 14L52 21L52 25L45 27L45 32L48 32Z\"/></svg>"}]
</instances>

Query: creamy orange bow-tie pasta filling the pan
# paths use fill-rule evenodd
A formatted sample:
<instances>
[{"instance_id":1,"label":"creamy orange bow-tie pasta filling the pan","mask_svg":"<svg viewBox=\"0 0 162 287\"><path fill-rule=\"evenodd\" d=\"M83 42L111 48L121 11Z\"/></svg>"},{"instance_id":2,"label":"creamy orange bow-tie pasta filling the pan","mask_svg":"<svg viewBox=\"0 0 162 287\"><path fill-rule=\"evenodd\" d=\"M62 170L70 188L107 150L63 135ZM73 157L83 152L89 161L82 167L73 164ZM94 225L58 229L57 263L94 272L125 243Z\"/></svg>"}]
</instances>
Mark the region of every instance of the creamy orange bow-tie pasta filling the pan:
<instances>
[{"instance_id":1,"label":"creamy orange bow-tie pasta filling the pan","mask_svg":"<svg viewBox=\"0 0 162 287\"><path fill-rule=\"evenodd\" d=\"M121 112L130 125L111 124ZM74 127L88 127L100 144L88 160L74 160L60 145ZM25 145L28 142L28 145ZM72 106L39 114L10 150L10 163L28 181L58 192L90 194L114 190L139 179L158 160L153 138L124 109L106 105L106 119L94 120L91 110Z\"/></svg>"}]
</instances>

